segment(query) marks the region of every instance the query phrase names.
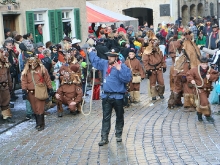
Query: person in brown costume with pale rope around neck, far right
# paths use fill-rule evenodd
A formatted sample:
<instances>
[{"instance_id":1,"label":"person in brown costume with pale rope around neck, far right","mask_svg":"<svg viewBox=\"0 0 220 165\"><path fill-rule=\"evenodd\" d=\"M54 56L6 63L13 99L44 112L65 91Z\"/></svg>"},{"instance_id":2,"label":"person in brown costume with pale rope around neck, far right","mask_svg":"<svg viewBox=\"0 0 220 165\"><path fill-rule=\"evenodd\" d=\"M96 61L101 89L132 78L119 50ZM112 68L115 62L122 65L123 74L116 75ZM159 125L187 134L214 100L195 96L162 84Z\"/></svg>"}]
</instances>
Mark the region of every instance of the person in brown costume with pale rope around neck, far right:
<instances>
[{"instance_id":1,"label":"person in brown costume with pale rope around neck, far right","mask_svg":"<svg viewBox=\"0 0 220 165\"><path fill-rule=\"evenodd\" d=\"M218 79L218 71L208 66L208 59L202 57L201 63L187 72L187 82L191 83L196 99L196 110L198 120L202 121L202 115L205 115L208 122L213 123L211 117L211 106L208 101L209 94L212 90L212 82Z\"/></svg>"}]
</instances>

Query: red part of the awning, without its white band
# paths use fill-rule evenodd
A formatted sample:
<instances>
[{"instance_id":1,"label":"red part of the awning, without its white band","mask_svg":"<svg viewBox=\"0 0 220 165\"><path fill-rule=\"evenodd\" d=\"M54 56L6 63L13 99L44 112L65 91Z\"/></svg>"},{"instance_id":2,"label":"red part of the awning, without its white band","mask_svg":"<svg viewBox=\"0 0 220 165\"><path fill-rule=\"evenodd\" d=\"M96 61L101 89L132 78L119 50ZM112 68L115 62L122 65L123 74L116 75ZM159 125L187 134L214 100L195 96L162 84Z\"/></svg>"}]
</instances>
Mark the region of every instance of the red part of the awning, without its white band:
<instances>
[{"instance_id":1,"label":"red part of the awning, without its white band","mask_svg":"<svg viewBox=\"0 0 220 165\"><path fill-rule=\"evenodd\" d=\"M87 22L96 23L96 22L118 22L117 19L111 18L107 15L104 15L98 11L91 9L90 7L86 7L87 12Z\"/></svg>"}]
</instances>

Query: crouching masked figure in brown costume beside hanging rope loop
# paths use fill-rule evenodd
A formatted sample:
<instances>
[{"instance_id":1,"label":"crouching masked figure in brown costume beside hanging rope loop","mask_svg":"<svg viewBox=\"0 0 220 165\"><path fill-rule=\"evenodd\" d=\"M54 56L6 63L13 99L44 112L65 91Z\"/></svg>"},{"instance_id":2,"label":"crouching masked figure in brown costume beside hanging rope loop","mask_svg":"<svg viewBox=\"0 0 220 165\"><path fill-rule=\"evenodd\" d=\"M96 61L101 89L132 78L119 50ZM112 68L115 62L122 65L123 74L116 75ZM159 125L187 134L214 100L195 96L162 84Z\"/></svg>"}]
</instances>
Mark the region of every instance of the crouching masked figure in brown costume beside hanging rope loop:
<instances>
[{"instance_id":1,"label":"crouching masked figure in brown costume beside hanging rope loop","mask_svg":"<svg viewBox=\"0 0 220 165\"><path fill-rule=\"evenodd\" d=\"M70 69L62 70L62 72L62 83L55 95L57 99L58 117L63 116L62 104L68 105L70 113L72 114L76 114L77 110L80 111L77 105L80 104L83 96L81 86L74 83L76 81L76 75Z\"/></svg>"}]
</instances>

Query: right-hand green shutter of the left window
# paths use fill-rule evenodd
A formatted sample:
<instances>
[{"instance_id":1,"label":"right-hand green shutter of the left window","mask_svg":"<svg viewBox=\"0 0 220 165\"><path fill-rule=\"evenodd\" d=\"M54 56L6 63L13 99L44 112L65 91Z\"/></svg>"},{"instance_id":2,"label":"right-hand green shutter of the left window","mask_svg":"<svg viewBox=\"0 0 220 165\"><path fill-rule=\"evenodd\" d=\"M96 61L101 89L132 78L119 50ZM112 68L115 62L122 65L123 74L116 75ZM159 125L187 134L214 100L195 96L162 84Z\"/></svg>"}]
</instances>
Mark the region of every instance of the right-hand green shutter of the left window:
<instances>
[{"instance_id":1,"label":"right-hand green shutter of the left window","mask_svg":"<svg viewBox=\"0 0 220 165\"><path fill-rule=\"evenodd\" d=\"M50 41L52 43L57 44L55 11L48 10L48 17L49 17Z\"/></svg>"}]
</instances>

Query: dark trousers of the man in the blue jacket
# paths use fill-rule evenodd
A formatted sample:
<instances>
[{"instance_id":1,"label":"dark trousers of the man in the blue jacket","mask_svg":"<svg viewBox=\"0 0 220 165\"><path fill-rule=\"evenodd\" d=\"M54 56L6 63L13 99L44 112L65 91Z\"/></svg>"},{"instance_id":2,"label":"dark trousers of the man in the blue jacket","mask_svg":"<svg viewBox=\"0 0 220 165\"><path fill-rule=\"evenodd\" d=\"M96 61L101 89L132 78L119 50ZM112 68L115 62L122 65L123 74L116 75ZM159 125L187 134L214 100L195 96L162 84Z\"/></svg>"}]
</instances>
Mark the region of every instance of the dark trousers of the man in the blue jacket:
<instances>
[{"instance_id":1,"label":"dark trousers of the man in the blue jacket","mask_svg":"<svg viewBox=\"0 0 220 165\"><path fill-rule=\"evenodd\" d=\"M115 109L116 113L116 124L115 124L115 136L120 137L122 135L124 127L124 108L123 108L123 99L112 99L104 98L102 99L102 138L108 138L108 134L111 129L111 116L112 109Z\"/></svg>"}]
</instances>

